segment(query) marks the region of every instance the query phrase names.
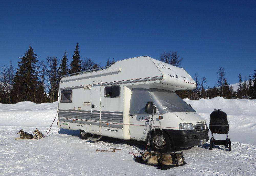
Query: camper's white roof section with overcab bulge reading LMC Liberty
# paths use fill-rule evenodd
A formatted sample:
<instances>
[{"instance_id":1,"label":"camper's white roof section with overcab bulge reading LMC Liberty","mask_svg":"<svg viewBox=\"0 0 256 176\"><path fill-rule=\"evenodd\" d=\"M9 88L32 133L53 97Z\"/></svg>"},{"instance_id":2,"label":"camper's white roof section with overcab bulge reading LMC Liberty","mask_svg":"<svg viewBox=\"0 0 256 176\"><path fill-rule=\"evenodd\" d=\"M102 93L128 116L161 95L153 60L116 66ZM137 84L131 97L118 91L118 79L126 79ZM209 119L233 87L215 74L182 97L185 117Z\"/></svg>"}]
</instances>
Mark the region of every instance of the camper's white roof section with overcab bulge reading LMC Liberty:
<instances>
[{"instance_id":1,"label":"camper's white roof section with overcab bulge reading LMC Liberty","mask_svg":"<svg viewBox=\"0 0 256 176\"><path fill-rule=\"evenodd\" d=\"M183 68L153 59L149 56L140 56L116 61L109 67L72 73L61 78L61 84L67 82L81 84L79 80L101 80L102 84L152 84L169 87L173 91L188 90L196 87L195 81ZM91 81L91 82L92 82ZM83 81L84 82L84 81Z\"/></svg>"}]
</instances>

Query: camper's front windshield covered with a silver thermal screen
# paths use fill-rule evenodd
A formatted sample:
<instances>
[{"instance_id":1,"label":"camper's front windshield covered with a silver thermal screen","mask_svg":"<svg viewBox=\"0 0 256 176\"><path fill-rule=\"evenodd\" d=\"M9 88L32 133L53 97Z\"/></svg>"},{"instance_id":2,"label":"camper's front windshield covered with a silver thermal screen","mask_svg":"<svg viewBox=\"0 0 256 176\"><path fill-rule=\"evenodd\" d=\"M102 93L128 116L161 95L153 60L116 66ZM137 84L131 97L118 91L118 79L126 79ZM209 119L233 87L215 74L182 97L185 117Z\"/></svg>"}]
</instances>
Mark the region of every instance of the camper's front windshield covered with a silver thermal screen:
<instances>
[{"instance_id":1,"label":"camper's front windshield covered with a silver thermal screen","mask_svg":"<svg viewBox=\"0 0 256 176\"><path fill-rule=\"evenodd\" d=\"M148 89L153 103L160 114L168 112L195 112L186 102L173 91L162 89Z\"/></svg>"}]
</instances>

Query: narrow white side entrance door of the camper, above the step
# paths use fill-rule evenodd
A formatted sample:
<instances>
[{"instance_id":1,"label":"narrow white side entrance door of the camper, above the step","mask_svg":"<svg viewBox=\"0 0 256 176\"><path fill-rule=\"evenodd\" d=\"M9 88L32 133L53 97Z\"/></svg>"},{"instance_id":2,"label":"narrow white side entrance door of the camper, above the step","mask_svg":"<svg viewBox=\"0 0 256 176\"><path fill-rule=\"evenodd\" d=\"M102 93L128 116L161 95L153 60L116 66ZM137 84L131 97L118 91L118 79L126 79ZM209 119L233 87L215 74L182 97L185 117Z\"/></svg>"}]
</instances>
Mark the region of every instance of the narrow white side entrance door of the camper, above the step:
<instances>
[{"instance_id":1,"label":"narrow white side entrance door of the camper, above the step","mask_svg":"<svg viewBox=\"0 0 256 176\"><path fill-rule=\"evenodd\" d=\"M91 130L100 131L101 81L92 82Z\"/></svg>"}]
</instances>

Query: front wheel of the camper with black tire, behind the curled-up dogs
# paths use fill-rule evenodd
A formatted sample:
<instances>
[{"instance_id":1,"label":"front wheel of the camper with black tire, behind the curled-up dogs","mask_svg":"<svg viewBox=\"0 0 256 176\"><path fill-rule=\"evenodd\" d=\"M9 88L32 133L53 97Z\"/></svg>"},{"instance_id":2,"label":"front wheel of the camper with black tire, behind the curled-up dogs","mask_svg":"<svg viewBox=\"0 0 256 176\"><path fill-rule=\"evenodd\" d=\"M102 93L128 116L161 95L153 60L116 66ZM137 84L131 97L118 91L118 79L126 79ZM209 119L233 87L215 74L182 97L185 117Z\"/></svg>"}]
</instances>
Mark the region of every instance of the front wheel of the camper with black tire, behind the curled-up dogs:
<instances>
[{"instance_id":1,"label":"front wheel of the camper with black tire, behind the curled-up dogs","mask_svg":"<svg viewBox=\"0 0 256 176\"><path fill-rule=\"evenodd\" d=\"M153 130L151 133L150 149L161 153L171 151L172 144L169 136L164 131Z\"/></svg>"}]
</instances>

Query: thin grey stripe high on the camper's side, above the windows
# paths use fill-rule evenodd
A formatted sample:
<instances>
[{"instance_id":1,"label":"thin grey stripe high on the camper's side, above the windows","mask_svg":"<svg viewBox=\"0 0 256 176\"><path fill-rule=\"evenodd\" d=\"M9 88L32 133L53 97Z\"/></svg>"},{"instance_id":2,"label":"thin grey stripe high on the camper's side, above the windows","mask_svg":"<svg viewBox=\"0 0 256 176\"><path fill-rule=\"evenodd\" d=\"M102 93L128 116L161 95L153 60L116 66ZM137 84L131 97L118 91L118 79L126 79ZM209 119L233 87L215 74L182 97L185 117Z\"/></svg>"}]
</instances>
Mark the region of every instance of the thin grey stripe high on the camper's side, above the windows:
<instances>
[{"instance_id":1,"label":"thin grey stripe high on the camper's side, above the windows","mask_svg":"<svg viewBox=\"0 0 256 176\"><path fill-rule=\"evenodd\" d=\"M155 77L149 77L149 78L138 78L138 79L131 79L131 80L104 82L101 85L106 86L106 85L115 85L115 84L127 84L127 83L135 83L135 82L157 81L157 80L162 80L162 79L163 79L163 76L155 76ZM97 85L97 84L94 84L94 85ZM80 88L84 88L84 85L63 87L63 88L60 88L60 90L80 89Z\"/></svg>"}]
</instances>

